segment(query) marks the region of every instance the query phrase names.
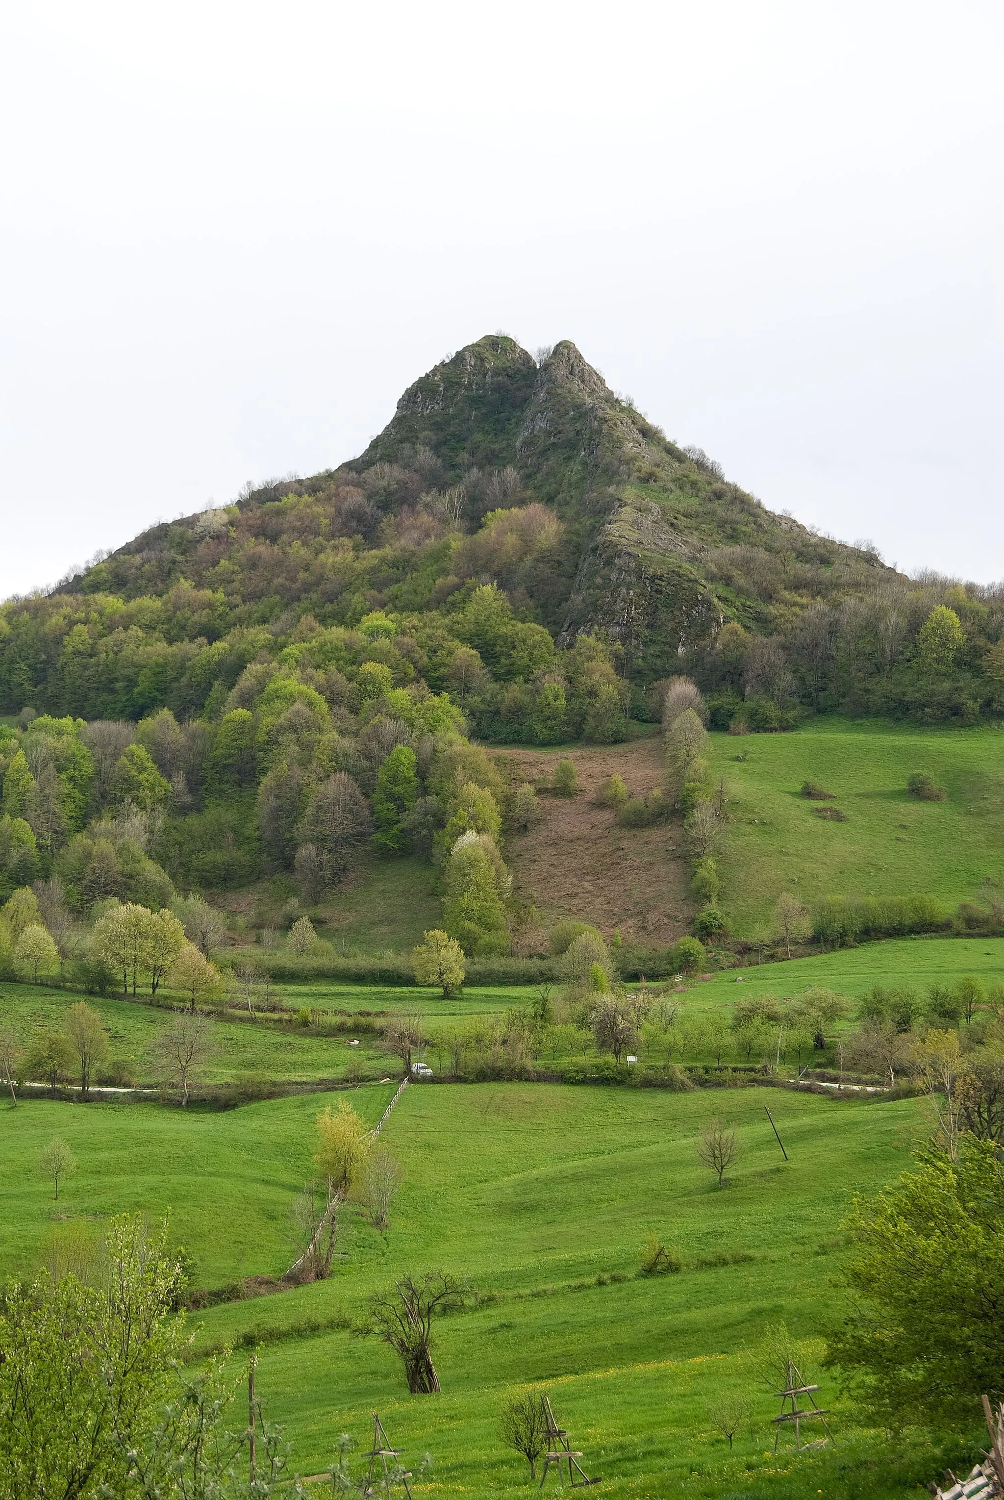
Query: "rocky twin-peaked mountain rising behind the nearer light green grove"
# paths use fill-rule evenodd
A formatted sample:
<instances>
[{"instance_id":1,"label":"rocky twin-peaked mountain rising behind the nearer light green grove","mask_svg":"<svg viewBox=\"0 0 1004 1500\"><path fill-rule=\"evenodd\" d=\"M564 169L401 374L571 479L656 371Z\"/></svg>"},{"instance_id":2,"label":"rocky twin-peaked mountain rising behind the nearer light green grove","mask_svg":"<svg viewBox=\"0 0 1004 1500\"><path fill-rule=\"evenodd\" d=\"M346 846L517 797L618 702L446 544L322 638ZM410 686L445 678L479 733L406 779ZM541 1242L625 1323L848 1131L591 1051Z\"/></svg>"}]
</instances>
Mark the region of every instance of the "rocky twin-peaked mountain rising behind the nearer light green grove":
<instances>
[{"instance_id":1,"label":"rocky twin-peaked mountain rising behind the nearer light green grove","mask_svg":"<svg viewBox=\"0 0 1004 1500\"><path fill-rule=\"evenodd\" d=\"M951 670L921 681L938 606L960 640ZM501 334L417 380L357 459L249 486L6 604L0 705L218 711L257 657L378 614L417 642L411 668L434 690L450 650L434 636L479 654L477 692L456 692L489 738L554 740L530 699L588 639L641 717L644 690L681 669L722 699L722 724L746 699L774 704L761 728L783 726L797 699L962 722L1001 706L1004 672L984 670L999 604L911 584L873 550L771 513L615 396L573 344L537 362ZM524 684L507 718L504 684ZM579 714L561 732L581 729Z\"/></svg>"}]
</instances>

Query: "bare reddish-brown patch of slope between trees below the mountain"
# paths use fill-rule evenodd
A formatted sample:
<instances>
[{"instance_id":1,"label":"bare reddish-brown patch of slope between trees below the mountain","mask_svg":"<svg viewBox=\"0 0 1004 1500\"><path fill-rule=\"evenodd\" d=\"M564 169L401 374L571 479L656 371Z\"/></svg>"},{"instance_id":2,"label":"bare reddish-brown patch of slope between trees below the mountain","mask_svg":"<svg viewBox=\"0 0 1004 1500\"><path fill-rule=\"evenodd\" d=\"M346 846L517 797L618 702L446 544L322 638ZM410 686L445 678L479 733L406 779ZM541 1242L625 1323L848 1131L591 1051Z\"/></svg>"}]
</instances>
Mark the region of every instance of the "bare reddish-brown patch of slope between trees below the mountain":
<instances>
[{"instance_id":1,"label":"bare reddish-brown patch of slope between trees below the mountain","mask_svg":"<svg viewBox=\"0 0 1004 1500\"><path fill-rule=\"evenodd\" d=\"M603 782L620 771L632 794L662 783L659 736L623 746L575 750L500 752L522 780L549 786L558 760L575 762L579 795L540 796L542 822L506 840L506 861L521 894L533 900L542 927L563 916L593 922L605 936L620 928L624 942L663 946L689 928L693 898L687 886L680 822L621 828L596 806ZM519 948L534 946L525 934Z\"/></svg>"}]
</instances>

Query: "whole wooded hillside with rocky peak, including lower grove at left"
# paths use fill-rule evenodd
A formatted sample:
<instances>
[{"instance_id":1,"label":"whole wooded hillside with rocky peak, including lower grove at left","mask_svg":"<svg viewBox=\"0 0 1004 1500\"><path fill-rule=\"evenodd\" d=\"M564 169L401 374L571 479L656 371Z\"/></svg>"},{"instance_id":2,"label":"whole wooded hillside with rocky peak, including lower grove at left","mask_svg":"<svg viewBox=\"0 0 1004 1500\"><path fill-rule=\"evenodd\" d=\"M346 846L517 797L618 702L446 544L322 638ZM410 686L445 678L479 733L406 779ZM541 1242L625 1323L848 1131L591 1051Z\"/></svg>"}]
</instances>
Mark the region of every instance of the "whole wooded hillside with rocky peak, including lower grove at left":
<instances>
[{"instance_id":1,"label":"whole wooded hillside with rocky peak, including lower grove at left","mask_svg":"<svg viewBox=\"0 0 1004 1500\"><path fill-rule=\"evenodd\" d=\"M507 951L536 794L471 736L615 744L681 674L713 729L968 724L1004 710L1002 628L990 590L771 514L572 344L485 338L359 459L3 606L0 894L56 882L50 930L269 876L311 906L366 846L443 866L444 926Z\"/></svg>"}]
</instances>

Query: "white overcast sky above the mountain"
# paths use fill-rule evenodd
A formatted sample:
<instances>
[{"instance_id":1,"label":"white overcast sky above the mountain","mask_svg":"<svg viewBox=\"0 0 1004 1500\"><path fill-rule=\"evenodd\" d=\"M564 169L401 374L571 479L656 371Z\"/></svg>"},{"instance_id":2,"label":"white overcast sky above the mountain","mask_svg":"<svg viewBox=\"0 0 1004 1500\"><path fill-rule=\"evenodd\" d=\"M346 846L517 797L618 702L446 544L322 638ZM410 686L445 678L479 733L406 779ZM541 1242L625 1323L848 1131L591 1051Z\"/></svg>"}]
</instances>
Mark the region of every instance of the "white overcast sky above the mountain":
<instances>
[{"instance_id":1,"label":"white overcast sky above the mountain","mask_svg":"<svg viewBox=\"0 0 1004 1500\"><path fill-rule=\"evenodd\" d=\"M776 510L1004 578L999 0L0 20L0 597L573 339Z\"/></svg>"}]
</instances>

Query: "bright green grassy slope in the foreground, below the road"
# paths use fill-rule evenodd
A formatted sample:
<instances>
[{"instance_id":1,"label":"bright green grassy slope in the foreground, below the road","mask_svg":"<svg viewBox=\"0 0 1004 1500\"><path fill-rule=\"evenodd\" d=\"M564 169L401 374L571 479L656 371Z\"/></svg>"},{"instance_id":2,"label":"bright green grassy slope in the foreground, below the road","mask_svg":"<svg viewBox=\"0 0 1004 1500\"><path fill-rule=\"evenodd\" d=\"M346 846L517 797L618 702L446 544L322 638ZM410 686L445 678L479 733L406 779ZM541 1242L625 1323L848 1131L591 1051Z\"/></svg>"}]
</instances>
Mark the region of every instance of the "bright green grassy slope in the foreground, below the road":
<instances>
[{"instance_id":1,"label":"bright green grassy slope in the foreground, below the road","mask_svg":"<svg viewBox=\"0 0 1004 1500\"><path fill-rule=\"evenodd\" d=\"M354 1101L375 1119L387 1095L366 1089ZM323 1102L308 1096L191 1116L45 1102L8 1112L6 1266L23 1264L48 1227L53 1206L41 1185L24 1185L24 1168L59 1131L81 1161L65 1212L159 1215L173 1206L204 1280L282 1269L291 1258L290 1203L309 1172L312 1116ZM695 1158L696 1132L714 1113L734 1122L743 1142L726 1192ZM762 1470L744 1494L804 1494L788 1486L789 1464L762 1456L776 1402L761 1382L753 1380L761 1426L755 1438L737 1440L731 1460L704 1402L750 1383L743 1350L765 1322L786 1317L819 1334L833 1310L848 1198L905 1166L921 1126L915 1101L857 1106L755 1089L416 1088L386 1126L405 1168L390 1232L378 1236L351 1212L348 1260L330 1282L195 1314L198 1340L356 1317L365 1293L395 1272L441 1264L501 1296L441 1324L437 1401L408 1398L395 1359L345 1332L261 1348L260 1388L269 1413L287 1422L302 1470L317 1470L341 1431L363 1437L378 1407L410 1461L434 1452L437 1492L504 1492L521 1474L494 1434L498 1400L506 1384L531 1378L554 1394L590 1470L608 1478L606 1494L660 1496L686 1480L692 1494L722 1496L744 1464ZM650 1230L690 1260L735 1251L755 1258L639 1280L636 1248ZM596 1284L611 1272L627 1280ZM827 1377L827 1402L834 1396ZM845 1412L845 1431L846 1420ZM843 1461L854 1443L845 1440ZM828 1460L803 1461L792 1484L803 1485L807 1470L827 1494L866 1492L840 1484Z\"/></svg>"}]
</instances>

